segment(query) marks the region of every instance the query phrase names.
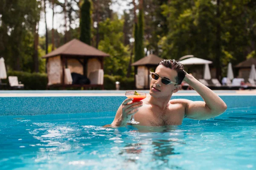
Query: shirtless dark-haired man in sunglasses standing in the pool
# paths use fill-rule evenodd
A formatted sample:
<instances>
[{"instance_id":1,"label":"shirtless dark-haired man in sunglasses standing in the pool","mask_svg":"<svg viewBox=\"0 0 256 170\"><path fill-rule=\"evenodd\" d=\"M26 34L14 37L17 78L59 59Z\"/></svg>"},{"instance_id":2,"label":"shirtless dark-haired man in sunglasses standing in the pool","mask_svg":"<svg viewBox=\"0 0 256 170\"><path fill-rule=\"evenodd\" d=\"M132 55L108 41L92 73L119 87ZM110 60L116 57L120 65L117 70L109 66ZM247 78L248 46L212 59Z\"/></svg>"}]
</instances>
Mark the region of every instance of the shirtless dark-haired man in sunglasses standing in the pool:
<instances>
[{"instance_id":1,"label":"shirtless dark-haired man in sunglasses standing in the pool","mask_svg":"<svg viewBox=\"0 0 256 170\"><path fill-rule=\"evenodd\" d=\"M140 102L125 99L116 112L112 127L127 123L134 115L141 126L181 125L183 118L204 120L218 116L227 109L225 102L192 75L186 74L183 64L175 59L162 60L155 73L151 72L149 96ZM171 99L181 88L183 79L200 94L202 101ZM136 113L136 114L135 114Z\"/></svg>"}]
</instances>

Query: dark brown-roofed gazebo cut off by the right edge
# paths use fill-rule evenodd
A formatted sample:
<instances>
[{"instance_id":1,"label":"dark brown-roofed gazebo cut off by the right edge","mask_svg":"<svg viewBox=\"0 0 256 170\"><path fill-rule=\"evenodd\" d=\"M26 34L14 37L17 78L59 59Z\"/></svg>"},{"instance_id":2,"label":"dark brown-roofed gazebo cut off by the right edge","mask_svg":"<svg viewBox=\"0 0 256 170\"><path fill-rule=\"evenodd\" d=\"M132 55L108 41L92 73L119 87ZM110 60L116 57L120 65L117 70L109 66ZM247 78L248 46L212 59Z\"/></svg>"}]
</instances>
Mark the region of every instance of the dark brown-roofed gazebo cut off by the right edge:
<instances>
[{"instance_id":1,"label":"dark brown-roofed gazebo cut off by the right edge","mask_svg":"<svg viewBox=\"0 0 256 170\"><path fill-rule=\"evenodd\" d=\"M252 65L256 65L256 59L250 58L243 62L240 62L235 68L238 70L238 76L240 78L248 79L250 74L250 69Z\"/></svg>"}]
</instances>

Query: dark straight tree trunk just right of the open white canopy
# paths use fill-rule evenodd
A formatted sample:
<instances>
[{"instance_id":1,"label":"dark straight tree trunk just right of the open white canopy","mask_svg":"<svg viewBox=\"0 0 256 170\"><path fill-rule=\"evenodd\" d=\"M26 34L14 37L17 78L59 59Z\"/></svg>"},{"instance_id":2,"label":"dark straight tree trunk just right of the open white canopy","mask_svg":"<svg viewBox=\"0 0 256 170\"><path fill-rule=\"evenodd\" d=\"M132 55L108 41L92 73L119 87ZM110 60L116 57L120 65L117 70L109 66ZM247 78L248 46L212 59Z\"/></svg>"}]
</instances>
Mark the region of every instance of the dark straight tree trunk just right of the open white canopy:
<instances>
[{"instance_id":1,"label":"dark straight tree trunk just right of the open white canopy","mask_svg":"<svg viewBox=\"0 0 256 170\"><path fill-rule=\"evenodd\" d=\"M221 17L220 17L220 2L217 0L217 24L216 24L216 78L221 80Z\"/></svg>"}]
</instances>

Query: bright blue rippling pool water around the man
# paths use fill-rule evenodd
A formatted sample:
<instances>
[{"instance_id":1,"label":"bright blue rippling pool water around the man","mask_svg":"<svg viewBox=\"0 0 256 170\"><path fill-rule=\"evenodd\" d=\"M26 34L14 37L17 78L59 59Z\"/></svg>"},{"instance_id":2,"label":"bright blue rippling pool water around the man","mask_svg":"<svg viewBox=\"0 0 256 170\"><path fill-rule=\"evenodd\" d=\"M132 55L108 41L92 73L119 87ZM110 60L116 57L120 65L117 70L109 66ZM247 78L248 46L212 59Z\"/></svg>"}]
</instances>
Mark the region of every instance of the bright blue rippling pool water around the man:
<instances>
[{"instance_id":1,"label":"bright blue rippling pool water around the man","mask_svg":"<svg viewBox=\"0 0 256 170\"><path fill-rule=\"evenodd\" d=\"M102 127L114 115L0 116L0 169L256 169L256 107L180 126Z\"/></svg>"}]
</instances>

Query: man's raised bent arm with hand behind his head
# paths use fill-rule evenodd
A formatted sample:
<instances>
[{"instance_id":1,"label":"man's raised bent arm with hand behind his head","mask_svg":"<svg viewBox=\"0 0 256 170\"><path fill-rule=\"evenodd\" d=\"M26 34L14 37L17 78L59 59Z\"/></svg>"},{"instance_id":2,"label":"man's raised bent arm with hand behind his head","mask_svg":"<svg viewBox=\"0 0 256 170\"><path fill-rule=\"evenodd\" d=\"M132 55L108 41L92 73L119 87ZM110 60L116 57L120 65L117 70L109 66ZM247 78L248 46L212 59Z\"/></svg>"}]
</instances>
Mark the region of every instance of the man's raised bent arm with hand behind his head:
<instances>
[{"instance_id":1,"label":"man's raised bent arm with hand behind his head","mask_svg":"<svg viewBox=\"0 0 256 170\"><path fill-rule=\"evenodd\" d=\"M204 99L204 102L186 100L185 113L187 118L204 120L219 116L227 110L226 103L195 77L186 74L184 80Z\"/></svg>"}]
</instances>

